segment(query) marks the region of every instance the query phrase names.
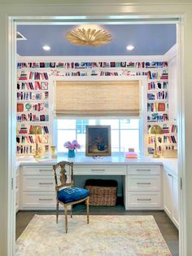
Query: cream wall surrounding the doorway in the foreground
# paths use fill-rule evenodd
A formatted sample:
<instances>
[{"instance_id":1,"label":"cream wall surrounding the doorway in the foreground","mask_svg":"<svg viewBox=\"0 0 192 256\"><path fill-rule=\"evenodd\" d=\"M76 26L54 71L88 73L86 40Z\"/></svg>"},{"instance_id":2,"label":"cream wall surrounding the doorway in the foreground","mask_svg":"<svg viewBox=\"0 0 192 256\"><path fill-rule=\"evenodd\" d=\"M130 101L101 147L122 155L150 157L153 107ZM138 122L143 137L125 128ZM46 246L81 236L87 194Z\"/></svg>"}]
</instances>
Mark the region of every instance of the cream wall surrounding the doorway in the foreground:
<instances>
[{"instance_id":1,"label":"cream wall surrounding the doorway in the foreground","mask_svg":"<svg viewBox=\"0 0 192 256\"><path fill-rule=\"evenodd\" d=\"M58 0L59 1L59 0ZM7 3L6 1L3 1ZM3 3L2 2L2 3ZM120 4L120 2L116 3L113 1L109 4L105 4L105 1L101 1L100 3L95 3L94 6L89 6L89 4L85 4L85 2L79 3L76 0L76 6L73 6L73 1L69 1L68 6L59 5L57 6L55 3L46 6L46 1L33 1L38 3L38 7L33 6L33 3L30 1L29 6L24 6L24 0L9 0L12 2L12 5L4 4L0 6L0 31L1 31L1 40L0 40L0 162L1 162L1 170L0 170L0 202L1 202L1 211L0 211L0 255L7 256L11 255L7 251L7 227L8 227L8 213L10 210L7 209L8 202L8 192L7 192L7 183L11 184L11 179L8 180L8 176L11 173L11 168L9 166L10 161L8 161L8 157L10 156L9 148L10 140L7 136L7 131L9 128L8 117L11 115L11 110L8 108L9 99L8 99L8 51L7 51L7 41L8 41L8 33L7 33L7 23L8 16L17 16L17 15L150 15L150 14L159 14L159 17L163 17L164 15L183 15L184 19L181 24L182 38L184 38L184 48L182 49L183 59L181 60L181 70L183 71L182 78L182 88L179 92L181 95L181 120L182 120L182 136L180 140L180 145L182 146L182 150L179 151L181 166L183 175L183 192L181 196L185 197L186 204L183 205L183 216L185 222L187 223L187 229L185 227L185 232L182 234L184 245L186 245L186 250L183 256L192 255L192 158L191 158L191 145L192 145L192 108L191 108L191 100L192 100L192 84L191 84L191 70L192 70L192 5L190 4L190 0L185 0L188 2L181 2L179 0L169 0L167 3L166 0L156 1L148 1L152 2L151 4L146 3L146 1L142 0L131 0L126 1L124 4ZM42 4L40 4L40 2ZM50 2L47 0L47 2ZM63 1L59 1L63 2ZM88 1L87 1L88 2ZM128 2L136 2L143 3L142 4L128 4ZM156 4L161 2L162 4ZM163 3L164 2L164 3ZM176 4L177 2L177 4ZM21 3L18 5L18 3ZM23 3L23 5L22 5ZM44 3L44 4L43 4ZM53 3L52 1L50 3ZM83 4L84 3L84 4ZM79 6L77 6L79 5ZM10 35L9 35L10 38ZM185 51L184 51L185 50ZM11 73L11 69L9 70ZM9 111L10 110L10 111ZM186 117L186 118L185 118ZM11 131L11 130L10 130ZM182 224L185 224L182 222ZM8 241L10 243L10 241Z\"/></svg>"}]
</instances>

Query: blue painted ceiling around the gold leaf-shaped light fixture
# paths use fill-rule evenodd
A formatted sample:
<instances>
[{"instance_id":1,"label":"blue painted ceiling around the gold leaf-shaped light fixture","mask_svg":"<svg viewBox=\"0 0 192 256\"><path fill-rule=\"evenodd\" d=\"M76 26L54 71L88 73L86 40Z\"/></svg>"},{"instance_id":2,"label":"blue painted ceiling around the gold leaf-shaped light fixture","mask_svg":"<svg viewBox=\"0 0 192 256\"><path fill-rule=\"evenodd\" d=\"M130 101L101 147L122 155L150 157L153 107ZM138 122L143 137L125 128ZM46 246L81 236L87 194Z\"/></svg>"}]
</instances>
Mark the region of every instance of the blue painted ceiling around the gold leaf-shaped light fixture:
<instances>
[{"instance_id":1,"label":"blue painted ceiling around the gold leaf-shaped light fixture","mask_svg":"<svg viewBox=\"0 0 192 256\"><path fill-rule=\"evenodd\" d=\"M102 29L111 33L112 40L104 46L74 46L65 34L76 25L26 24L17 31L27 40L17 41L21 56L75 56L75 55L164 55L176 43L176 24L103 24ZM127 51L129 44L135 48ZM50 51L42 46L48 45Z\"/></svg>"}]
</instances>

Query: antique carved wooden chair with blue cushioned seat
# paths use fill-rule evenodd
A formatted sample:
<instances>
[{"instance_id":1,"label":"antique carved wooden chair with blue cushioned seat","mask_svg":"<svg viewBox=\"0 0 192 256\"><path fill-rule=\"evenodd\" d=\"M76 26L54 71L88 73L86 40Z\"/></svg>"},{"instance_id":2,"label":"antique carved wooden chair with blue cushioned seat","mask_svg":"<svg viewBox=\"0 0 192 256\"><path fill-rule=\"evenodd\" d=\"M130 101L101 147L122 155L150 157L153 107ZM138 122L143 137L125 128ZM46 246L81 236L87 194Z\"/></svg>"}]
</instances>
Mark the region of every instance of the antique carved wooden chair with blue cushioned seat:
<instances>
[{"instance_id":1,"label":"antique carved wooden chair with blue cushioned seat","mask_svg":"<svg viewBox=\"0 0 192 256\"><path fill-rule=\"evenodd\" d=\"M87 223L89 223L89 191L85 188L76 188L73 181L73 163L60 161L53 166L55 173L56 191L56 223L58 223L59 204L64 206L65 212L65 231L68 232L68 205L78 204L81 201L86 203ZM58 179L59 178L59 179ZM67 182L69 180L69 182Z\"/></svg>"}]
</instances>

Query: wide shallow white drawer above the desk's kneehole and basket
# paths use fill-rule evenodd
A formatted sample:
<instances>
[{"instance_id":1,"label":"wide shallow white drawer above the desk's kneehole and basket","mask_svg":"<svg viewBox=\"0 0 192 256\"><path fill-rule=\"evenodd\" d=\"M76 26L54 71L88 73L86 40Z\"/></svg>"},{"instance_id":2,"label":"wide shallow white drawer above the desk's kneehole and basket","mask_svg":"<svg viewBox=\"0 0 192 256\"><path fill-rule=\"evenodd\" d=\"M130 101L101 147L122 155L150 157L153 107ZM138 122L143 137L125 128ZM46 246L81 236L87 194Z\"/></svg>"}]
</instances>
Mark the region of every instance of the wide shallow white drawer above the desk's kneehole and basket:
<instances>
[{"instance_id":1,"label":"wide shallow white drawer above the desk's kneehole and basket","mask_svg":"<svg viewBox=\"0 0 192 256\"><path fill-rule=\"evenodd\" d=\"M125 175L126 166L74 166L75 175Z\"/></svg>"}]
</instances>

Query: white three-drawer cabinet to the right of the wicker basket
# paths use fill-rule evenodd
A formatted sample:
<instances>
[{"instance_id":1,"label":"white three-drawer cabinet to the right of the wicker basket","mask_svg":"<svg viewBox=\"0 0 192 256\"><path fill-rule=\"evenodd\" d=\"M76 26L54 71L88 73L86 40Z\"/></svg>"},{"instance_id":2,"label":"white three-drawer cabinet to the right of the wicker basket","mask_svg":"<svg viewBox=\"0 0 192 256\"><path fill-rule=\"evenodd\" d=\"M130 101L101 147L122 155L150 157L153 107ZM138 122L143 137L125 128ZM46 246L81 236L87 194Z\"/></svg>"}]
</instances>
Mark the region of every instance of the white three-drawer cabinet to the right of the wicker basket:
<instances>
[{"instance_id":1,"label":"white three-drawer cabinet to the right of the wicker basket","mask_svg":"<svg viewBox=\"0 0 192 256\"><path fill-rule=\"evenodd\" d=\"M161 210L160 166L128 166L125 177L126 210Z\"/></svg>"}]
</instances>

